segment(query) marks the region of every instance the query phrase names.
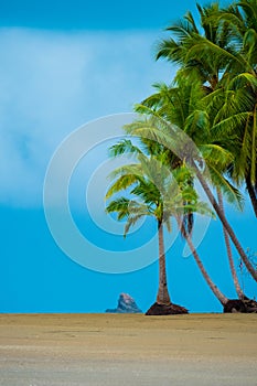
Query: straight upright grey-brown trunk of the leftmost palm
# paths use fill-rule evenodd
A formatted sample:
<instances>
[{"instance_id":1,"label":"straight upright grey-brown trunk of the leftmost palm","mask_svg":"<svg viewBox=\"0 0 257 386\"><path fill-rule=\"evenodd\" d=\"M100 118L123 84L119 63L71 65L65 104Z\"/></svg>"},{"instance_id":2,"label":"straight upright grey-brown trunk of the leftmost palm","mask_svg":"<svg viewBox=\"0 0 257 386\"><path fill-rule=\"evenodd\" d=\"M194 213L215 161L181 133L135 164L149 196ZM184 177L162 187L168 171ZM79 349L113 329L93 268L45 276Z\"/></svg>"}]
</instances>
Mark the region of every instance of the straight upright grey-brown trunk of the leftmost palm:
<instances>
[{"instance_id":1,"label":"straight upright grey-brown trunk of the leftmost palm","mask_svg":"<svg viewBox=\"0 0 257 386\"><path fill-rule=\"evenodd\" d=\"M170 300L168 286L167 286L163 225L161 221L158 221L158 239L159 239L159 289L157 294L157 303L170 304L171 300Z\"/></svg>"}]
</instances>

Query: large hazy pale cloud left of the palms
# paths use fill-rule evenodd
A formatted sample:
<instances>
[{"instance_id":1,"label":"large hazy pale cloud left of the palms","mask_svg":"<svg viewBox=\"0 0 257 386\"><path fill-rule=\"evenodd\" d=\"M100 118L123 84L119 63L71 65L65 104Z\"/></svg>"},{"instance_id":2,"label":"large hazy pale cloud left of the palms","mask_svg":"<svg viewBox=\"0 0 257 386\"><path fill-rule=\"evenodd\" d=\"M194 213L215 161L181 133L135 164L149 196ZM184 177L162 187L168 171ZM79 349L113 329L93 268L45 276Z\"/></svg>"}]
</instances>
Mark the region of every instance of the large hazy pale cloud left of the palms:
<instances>
[{"instance_id":1,"label":"large hazy pale cloud left of the palms","mask_svg":"<svg viewBox=\"0 0 257 386\"><path fill-rule=\"evenodd\" d=\"M38 205L56 146L90 119L131 111L171 81L156 63L158 31L0 30L0 202Z\"/></svg>"}]
</instances>

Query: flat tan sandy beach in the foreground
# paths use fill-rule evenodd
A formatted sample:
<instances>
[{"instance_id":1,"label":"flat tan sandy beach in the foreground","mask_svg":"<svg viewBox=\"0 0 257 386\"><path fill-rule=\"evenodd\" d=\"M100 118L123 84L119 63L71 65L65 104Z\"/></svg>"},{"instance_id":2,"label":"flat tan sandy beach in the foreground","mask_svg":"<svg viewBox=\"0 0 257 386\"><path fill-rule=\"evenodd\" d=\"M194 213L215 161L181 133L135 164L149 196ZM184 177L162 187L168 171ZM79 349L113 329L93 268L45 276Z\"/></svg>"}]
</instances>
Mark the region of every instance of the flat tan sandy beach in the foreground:
<instances>
[{"instance_id":1,"label":"flat tan sandy beach in the foreground","mask_svg":"<svg viewBox=\"0 0 257 386\"><path fill-rule=\"evenodd\" d=\"M0 385L257 386L257 314L0 314Z\"/></svg>"}]
</instances>

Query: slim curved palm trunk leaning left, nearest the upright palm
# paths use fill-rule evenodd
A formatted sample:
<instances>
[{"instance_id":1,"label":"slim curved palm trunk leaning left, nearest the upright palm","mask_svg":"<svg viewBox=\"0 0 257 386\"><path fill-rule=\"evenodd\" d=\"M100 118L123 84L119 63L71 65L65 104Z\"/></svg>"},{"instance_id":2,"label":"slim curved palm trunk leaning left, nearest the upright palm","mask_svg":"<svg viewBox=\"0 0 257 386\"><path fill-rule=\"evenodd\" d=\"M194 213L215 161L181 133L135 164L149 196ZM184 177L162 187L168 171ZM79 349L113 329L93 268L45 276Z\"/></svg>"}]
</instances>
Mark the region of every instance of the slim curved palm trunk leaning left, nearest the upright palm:
<instances>
[{"instance_id":1,"label":"slim curved palm trunk leaning left, nearest the upright palm","mask_svg":"<svg viewBox=\"0 0 257 386\"><path fill-rule=\"evenodd\" d=\"M217 288L216 285L214 285L213 280L211 279L211 277L208 276L206 269L204 268L203 266L203 262L193 245L193 242L191 239L191 236L189 235L189 233L186 232L183 223L181 221L178 219L178 224L179 224L179 227L181 229L181 233L183 235L183 237L185 238L189 247L190 247L190 250L192 251L193 254L193 257L195 259L195 262L196 265L199 266L199 269L201 270L205 281L207 282L208 287L211 288L211 290L213 291L213 293L215 294L215 297L219 300L219 302L222 303L222 305L225 305L228 301L228 299L225 297L225 294L222 293L222 291Z\"/></svg>"}]
</instances>

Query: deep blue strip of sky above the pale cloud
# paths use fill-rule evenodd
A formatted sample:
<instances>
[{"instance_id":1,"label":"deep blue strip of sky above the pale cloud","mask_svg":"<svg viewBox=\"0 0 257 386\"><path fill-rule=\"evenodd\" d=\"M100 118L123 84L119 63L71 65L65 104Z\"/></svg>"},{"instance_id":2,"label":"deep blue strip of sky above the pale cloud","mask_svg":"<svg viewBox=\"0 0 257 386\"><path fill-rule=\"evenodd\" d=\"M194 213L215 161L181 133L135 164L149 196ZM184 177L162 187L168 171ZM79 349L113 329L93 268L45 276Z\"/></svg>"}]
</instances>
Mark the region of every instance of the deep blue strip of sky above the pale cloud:
<instances>
[{"instance_id":1,"label":"deep blue strip of sky above the pale cloud","mask_svg":"<svg viewBox=\"0 0 257 386\"><path fill-rule=\"evenodd\" d=\"M10 0L1 3L0 21L4 26L30 26L62 30L162 29L170 20L192 10L191 0L122 2Z\"/></svg>"}]
</instances>

